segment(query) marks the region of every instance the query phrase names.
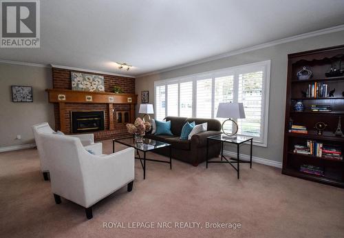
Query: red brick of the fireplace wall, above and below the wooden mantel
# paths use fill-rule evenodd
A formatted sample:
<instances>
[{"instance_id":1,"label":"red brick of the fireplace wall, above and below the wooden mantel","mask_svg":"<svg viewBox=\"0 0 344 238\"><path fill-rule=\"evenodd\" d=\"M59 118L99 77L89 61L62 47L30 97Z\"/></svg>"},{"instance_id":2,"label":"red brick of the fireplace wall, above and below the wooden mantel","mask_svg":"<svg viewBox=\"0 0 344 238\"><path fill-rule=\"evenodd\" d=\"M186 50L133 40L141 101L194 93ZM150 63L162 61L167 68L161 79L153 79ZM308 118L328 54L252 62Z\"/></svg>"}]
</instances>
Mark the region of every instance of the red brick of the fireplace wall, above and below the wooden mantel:
<instances>
[{"instance_id":1,"label":"red brick of the fireplace wall, above and below the wooden mantel","mask_svg":"<svg viewBox=\"0 0 344 238\"><path fill-rule=\"evenodd\" d=\"M67 70L61 68L52 68L52 79L54 89L72 89L71 72L80 72L76 70ZM84 72L91 75L101 75L93 72ZM124 93L135 93L135 79L129 77L119 77L114 75L103 75L105 92L112 92L114 86L120 86ZM114 111L130 110L129 104L112 104ZM109 125L109 106L107 103L65 103L65 132L71 134L71 118L70 112L74 110L104 110L105 111L105 130L93 132L95 140L111 139L115 137L123 137L128 135L123 123L114 123L114 130L110 130ZM116 113L113 114L116 117ZM55 129L60 130L60 111L58 103L54 103ZM114 118L115 119L115 118Z\"/></svg>"}]
</instances>

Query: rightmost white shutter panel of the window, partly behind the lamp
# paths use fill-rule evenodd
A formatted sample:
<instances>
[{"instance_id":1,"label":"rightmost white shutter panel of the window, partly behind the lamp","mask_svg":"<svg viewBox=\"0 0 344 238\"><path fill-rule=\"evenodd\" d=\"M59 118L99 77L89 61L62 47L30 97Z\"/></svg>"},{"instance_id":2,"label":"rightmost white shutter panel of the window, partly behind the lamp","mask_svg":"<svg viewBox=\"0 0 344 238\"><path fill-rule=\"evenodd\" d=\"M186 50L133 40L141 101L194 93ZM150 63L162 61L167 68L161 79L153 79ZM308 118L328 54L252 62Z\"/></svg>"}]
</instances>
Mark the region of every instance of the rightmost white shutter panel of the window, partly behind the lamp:
<instances>
[{"instance_id":1,"label":"rightmost white shutter panel of the window, partly behind the lamp","mask_svg":"<svg viewBox=\"0 0 344 238\"><path fill-rule=\"evenodd\" d=\"M238 119L238 134L261 136L263 71L239 74L238 102L244 103L245 119Z\"/></svg>"}]
</instances>

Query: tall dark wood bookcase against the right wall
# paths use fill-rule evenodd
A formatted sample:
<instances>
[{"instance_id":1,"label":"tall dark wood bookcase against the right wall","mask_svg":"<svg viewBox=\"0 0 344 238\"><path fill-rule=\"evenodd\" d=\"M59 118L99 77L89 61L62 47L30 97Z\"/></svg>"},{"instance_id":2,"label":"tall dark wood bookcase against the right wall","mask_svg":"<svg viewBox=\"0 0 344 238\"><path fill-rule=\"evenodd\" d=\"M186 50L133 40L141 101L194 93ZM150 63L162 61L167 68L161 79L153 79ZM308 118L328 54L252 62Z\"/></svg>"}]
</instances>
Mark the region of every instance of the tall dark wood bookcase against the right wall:
<instances>
[{"instance_id":1,"label":"tall dark wood bookcase against the right wall","mask_svg":"<svg viewBox=\"0 0 344 238\"><path fill-rule=\"evenodd\" d=\"M344 130L344 75L340 77L325 77L325 72L341 59L344 66L344 46L335 46L308 52L299 52L288 55L288 81L286 95L286 124L283 145L283 168L284 175L299 177L310 181L317 181L322 184L344 188L344 161L316 157L294 152L295 145L306 145L308 140L323 143L326 146L336 146L344 153L344 138L334 136L338 125L338 118L341 116L342 130ZM310 79L297 79L297 72L303 67L310 69L313 76ZM343 68L342 66L342 68ZM302 91L307 90L309 84L315 82L326 83L328 92L334 91L334 97L303 97ZM294 104L301 100L305 110L294 111ZM330 105L330 112L313 112L311 105ZM289 132L290 119L294 125L305 126L308 134ZM314 128L317 122L323 122L327 126L323 135L318 135ZM303 165L321 167L323 176L311 175L301 172Z\"/></svg>"}]
</instances>

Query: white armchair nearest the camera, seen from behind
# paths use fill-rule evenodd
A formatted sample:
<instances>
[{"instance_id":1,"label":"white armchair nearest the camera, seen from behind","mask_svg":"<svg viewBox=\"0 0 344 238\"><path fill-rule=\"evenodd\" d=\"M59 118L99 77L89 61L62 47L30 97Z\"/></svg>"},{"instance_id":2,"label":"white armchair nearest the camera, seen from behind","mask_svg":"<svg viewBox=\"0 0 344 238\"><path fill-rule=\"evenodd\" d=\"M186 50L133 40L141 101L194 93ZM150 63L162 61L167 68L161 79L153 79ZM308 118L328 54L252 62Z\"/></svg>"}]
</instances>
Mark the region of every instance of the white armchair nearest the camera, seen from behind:
<instances>
[{"instance_id":1,"label":"white armchair nearest the camera, seen from behind","mask_svg":"<svg viewBox=\"0 0 344 238\"><path fill-rule=\"evenodd\" d=\"M56 204L61 197L85 208L92 218L92 206L134 179L134 149L111 155L92 155L76 137L41 135L43 150L49 159L52 192Z\"/></svg>"}]
</instances>

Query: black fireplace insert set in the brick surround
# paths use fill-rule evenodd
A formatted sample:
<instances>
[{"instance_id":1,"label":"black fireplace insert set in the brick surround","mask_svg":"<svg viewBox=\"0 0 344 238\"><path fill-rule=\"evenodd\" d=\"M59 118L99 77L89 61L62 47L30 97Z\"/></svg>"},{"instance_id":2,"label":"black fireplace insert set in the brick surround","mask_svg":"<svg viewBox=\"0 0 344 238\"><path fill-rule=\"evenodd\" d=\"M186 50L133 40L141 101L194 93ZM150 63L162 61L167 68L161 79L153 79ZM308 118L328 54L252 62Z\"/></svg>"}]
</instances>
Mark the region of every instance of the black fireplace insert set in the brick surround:
<instances>
[{"instance_id":1,"label":"black fireplace insert set in the brick surround","mask_svg":"<svg viewBox=\"0 0 344 238\"><path fill-rule=\"evenodd\" d=\"M72 133L104 130L104 111L72 111Z\"/></svg>"}]
</instances>

